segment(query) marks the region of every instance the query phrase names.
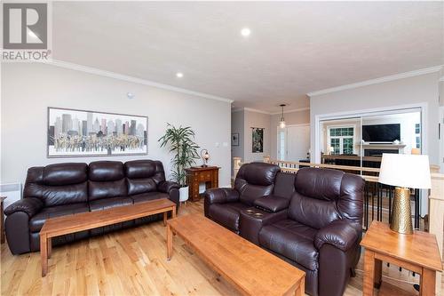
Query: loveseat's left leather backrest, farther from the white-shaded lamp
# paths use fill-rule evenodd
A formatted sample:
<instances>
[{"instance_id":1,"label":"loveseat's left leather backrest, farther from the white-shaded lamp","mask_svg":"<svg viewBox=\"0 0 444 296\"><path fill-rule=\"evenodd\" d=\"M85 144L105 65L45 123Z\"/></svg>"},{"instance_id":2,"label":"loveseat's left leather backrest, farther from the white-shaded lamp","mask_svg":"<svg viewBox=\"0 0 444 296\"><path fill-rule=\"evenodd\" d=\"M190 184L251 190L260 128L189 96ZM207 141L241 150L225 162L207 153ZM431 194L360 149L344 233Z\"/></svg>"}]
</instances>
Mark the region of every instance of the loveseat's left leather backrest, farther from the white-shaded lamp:
<instances>
[{"instance_id":1,"label":"loveseat's left leather backrest, farther from the white-shaded lamp","mask_svg":"<svg viewBox=\"0 0 444 296\"><path fill-rule=\"evenodd\" d=\"M280 171L275 164L243 164L234 180L234 188L239 192L242 203L252 205L257 198L271 195L274 179Z\"/></svg>"}]
</instances>

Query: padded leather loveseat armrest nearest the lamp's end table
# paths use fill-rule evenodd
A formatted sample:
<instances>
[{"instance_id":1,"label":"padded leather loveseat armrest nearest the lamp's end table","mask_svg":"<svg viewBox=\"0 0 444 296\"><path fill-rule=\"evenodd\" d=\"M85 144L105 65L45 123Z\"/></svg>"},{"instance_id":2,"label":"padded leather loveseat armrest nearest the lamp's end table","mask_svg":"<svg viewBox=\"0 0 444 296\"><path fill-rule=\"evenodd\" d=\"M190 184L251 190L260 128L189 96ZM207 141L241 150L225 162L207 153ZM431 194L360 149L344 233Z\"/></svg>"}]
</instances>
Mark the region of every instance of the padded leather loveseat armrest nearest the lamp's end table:
<instances>
[{"instance_id":1,"label":"padded leather loveseat armrest nearest the lamp's end table","mask_svg":"<svg viewBox=\"0 0 444 296\"><path fill-rule=\"evenodd\" d=\"M353 220L334 220L321 228L314 237L314 246L321 250L323 244L331 244L337 249L347 252L361 237L362 228Z\"/></svg>"}]
</instances>

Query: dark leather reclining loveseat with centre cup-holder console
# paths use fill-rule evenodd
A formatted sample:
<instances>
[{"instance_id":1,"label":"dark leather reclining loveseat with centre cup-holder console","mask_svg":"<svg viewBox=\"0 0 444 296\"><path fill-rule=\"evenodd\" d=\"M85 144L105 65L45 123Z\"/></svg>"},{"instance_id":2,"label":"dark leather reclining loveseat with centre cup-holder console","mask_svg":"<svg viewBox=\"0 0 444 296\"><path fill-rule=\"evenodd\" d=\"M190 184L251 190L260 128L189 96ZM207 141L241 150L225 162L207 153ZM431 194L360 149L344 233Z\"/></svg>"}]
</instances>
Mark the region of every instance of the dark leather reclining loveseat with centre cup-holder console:
<instances>
[{"instance_id":1,"label":"dark leather reclining loveseat with centre cup-holder console","mask_svg":"<svg viewBox=\"0 0 444 296\"><path fill-rule=\"evenodd\" d=\"M234 188L206 191L204 211L304 270L308 294L338 296L361 255L363 190L364 180L345 172L243 164Z\"/></svg>"}]
</instances>

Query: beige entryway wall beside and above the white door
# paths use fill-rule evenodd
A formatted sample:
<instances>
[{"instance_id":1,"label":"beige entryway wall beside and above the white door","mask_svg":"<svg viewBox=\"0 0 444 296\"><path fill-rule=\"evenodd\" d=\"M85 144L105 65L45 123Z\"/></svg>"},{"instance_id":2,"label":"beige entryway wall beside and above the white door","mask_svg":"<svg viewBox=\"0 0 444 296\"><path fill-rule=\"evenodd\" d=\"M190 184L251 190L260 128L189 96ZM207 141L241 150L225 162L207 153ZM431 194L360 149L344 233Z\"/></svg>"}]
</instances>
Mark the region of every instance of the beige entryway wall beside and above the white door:
<instances>
[{"instance_id":1,"label":"beige entryway wall beside and above the white door","mask_svg":"<svg viewBox=\"0 0 444 296\"><path fill-rule=\"evenodd\" d=\"M296 112L284 113L285 124L310 124L310 110L301 110ZM277 127L281 121L281 114L274 114L271 116L271 143L270 156L277 159Z\"/></svg>"}]
</instances>

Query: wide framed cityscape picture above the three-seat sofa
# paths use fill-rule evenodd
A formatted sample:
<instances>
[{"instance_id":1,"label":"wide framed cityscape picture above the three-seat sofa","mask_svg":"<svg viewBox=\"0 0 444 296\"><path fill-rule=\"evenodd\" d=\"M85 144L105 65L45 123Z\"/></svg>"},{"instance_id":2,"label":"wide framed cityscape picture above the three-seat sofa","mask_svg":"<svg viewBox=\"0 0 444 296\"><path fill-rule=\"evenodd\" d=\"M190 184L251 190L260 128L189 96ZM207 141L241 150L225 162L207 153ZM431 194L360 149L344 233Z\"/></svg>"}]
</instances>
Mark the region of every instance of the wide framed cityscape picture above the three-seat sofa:
<instances>
[{"instance_id":1,"label":"wide framed cityscape picture above the three-seat sofa","mask_svg":"<svg viewBox=\"0 0 444 296\"><path fill-rule=\"evenodd\" d=\"M147 116L48 108L48 157L147 155Z\"/></svg>"}]
</instances>

